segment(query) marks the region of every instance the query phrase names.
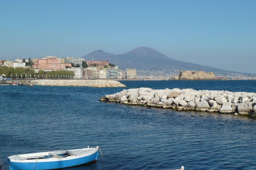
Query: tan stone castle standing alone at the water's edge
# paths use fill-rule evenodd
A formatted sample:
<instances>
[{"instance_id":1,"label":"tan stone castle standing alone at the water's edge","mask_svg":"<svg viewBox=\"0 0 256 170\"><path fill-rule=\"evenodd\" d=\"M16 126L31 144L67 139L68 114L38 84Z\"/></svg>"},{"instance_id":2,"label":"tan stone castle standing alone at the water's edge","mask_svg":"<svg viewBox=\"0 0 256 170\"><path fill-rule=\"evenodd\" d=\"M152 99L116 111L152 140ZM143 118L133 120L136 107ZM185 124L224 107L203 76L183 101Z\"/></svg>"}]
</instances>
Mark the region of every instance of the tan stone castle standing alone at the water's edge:
<instances>
[{"instance_id":1,"label":"tan stone castle standing alone at the water's edge","mask_svg":"<svg viewBox=\"0 0 256 170\"><path fill-rule=\"evenodd\" d=\"M175 79L177 76L175 77ZM216 76L213 72L205 71L180 71L178 75L179 80L207 80L207 79L216 79Z\"/></svg>"}]
</instances>

